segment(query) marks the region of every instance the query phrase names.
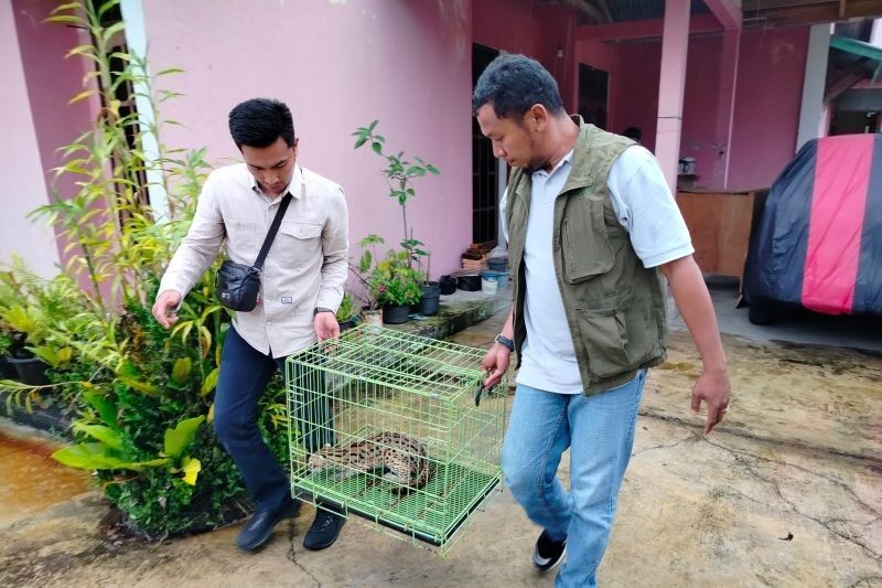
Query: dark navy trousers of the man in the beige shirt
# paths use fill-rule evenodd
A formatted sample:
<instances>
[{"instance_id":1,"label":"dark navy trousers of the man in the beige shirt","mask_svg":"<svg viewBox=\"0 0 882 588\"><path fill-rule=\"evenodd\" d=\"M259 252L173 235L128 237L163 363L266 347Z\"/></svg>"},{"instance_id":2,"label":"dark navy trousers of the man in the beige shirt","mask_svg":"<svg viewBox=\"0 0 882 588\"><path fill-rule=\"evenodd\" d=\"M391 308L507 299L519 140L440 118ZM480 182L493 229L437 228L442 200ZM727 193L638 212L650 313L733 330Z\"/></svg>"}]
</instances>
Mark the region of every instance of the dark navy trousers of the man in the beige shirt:
<instances>
[{"instance_id":1,"label":"dark navy trousers of the man in the beige shirt","mask_svg":"<svg viewBox=\"0 0 882 588\"><path fill-rule=\"evenodd\" d=\"M284 374L284 360L260 353L233 327L227 331L214 397L214 430L239 468L258 511L279 509L291 495L288 475L257 428L257 402L276 370ZM321 374L319 376L321 386L323 378ZM310 403L310 399L306 402ZM323 415L315 417L311 414L310 417L312 423L323 424L321 429L302 423L302 407L297 410L295 421L303 435L306 451L312 452L325 443L334 445L334 439L331 407L327 403L310 404L313 408L311 413L315 413L314 407L321 404Z\"/></svg>"}]
</instances>

